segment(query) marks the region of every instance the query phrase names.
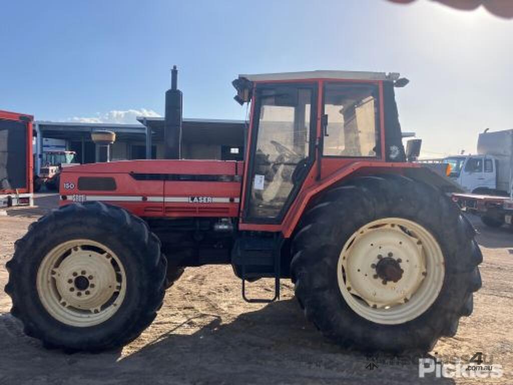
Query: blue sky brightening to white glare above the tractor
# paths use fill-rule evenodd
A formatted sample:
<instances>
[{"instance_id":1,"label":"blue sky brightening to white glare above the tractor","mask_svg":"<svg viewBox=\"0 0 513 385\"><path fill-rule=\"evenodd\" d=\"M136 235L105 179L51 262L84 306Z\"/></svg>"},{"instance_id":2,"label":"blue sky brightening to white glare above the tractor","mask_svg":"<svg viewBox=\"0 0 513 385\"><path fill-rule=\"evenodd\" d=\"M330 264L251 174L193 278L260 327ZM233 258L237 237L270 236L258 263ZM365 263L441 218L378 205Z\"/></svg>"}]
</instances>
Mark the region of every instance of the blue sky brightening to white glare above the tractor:
<instances>
[{"instance_id":1,"label":"blue sky brightening to white glare above the tractor","mask_svg":"<svg viewBox=\"0 0 513 385\"><path fill-rule=\"evenodd\" d=\"M0 109L39 120L163 114L179 66L184 117L243 119L239 73L397 71L405 131L425 155L476 151L513 128L513 21L428 0L2 2ZM117 111L117 112L116 112Z\"/></svg>"}]
</instances>

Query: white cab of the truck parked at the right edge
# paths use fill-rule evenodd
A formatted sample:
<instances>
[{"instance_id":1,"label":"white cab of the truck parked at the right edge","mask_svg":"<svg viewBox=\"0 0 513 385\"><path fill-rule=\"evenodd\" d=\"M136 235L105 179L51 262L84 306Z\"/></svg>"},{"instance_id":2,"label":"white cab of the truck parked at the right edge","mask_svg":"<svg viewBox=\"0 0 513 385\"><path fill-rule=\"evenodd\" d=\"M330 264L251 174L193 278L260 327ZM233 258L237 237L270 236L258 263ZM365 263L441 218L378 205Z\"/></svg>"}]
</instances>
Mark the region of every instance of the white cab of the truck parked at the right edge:
<instances>
[{"instance_id":1,"label":"white cab of the truck parked at the right edge","mask_svg":"<svg viewBox=\"0 0 513 385\"><path fill-rule=\"evenodd\" d=\"M450 166L449 178L467 192L485 192L497 188L497 162L490 155L460 155L443 160Z\"/></svg>"}]
</instances>

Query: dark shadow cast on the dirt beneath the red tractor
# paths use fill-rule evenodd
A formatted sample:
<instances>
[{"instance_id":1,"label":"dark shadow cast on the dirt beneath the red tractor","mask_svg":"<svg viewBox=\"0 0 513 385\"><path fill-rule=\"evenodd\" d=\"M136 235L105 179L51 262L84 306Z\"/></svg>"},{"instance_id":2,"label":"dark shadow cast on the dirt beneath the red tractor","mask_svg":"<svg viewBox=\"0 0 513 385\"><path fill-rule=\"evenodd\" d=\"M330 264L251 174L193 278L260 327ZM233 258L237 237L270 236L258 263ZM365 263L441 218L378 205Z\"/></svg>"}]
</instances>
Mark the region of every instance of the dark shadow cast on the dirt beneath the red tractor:
<instances>
[{"instance_id":1,"label":"dark shadow cast on the dirt beneath the red tractor","mask_svg":"<svg viewBox=\"0 0 513 385\"><path fill-rule=\"evenodd\" d=\"M184 324L195 321L203 326L193 334L180 334ZM360 353L324 341L293 299L227 324L218 315L199 314L170 325L165 334L125 357L121 351L48 351L24 336L10 314L0 316L1 383L453 383L419 379L417 364L378 359L378 368L370 371L369 362Z\"/></svg>"}]
</instances>

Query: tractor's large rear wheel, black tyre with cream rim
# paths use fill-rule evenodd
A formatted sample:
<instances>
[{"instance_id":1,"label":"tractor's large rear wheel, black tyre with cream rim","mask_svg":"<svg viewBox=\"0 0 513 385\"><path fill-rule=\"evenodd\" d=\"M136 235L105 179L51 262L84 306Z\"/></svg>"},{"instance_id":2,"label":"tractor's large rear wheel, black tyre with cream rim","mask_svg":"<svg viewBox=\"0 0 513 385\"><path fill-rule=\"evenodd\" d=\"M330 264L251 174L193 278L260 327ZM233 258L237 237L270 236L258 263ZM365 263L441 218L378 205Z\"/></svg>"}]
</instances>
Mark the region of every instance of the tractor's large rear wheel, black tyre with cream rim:
<instances>
[{"instance_id":1,"label":"tractor's large rear wheel, black tyre with cream rim","mask_svg":"<svg viewBox=\"0 0 513 385\"><path fill-rule=\"evenodd\" d=\"M481 287L475 231L435 188L363 177L325 192L292 242L295 295L343 347L427 352Z\"/></svg>"}]
</instances>

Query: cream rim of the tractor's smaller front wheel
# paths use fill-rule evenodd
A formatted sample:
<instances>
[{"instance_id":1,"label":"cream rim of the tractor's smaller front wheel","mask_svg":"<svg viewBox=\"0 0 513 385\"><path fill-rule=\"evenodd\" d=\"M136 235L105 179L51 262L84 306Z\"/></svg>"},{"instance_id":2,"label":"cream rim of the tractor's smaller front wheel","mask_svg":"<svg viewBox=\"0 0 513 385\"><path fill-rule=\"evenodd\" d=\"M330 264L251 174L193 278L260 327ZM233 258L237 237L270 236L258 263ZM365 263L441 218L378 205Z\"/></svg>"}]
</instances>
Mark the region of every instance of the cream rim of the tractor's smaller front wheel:
<instances>
[{"instance_id":1,"label":"cream rim of the tractor's smaller front wheel","mask_svg":"<svg viewBox=\"0 0 513 385\"><path fill-rule=\"evenodd\" d=\"M64 242L42 260L37 294L46 311L70 326L105 322L126 294L126 273L115 253L88 239Z\"/></svg>"}]
</instances>

